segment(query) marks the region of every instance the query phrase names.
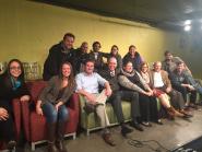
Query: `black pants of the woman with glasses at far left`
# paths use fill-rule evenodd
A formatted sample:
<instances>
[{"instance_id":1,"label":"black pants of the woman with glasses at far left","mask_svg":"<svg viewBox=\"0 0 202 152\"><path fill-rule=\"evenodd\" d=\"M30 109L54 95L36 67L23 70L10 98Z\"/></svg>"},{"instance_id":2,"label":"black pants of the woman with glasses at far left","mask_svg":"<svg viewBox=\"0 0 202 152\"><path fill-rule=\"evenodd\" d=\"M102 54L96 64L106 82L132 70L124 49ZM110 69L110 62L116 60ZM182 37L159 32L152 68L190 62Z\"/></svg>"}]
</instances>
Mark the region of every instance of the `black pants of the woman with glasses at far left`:
<instances>
[{"instance_id":1,"label":"black pants of the woman with glasses at far left","mask_svg":"<svg viewBox=\"0 0 202 152\"><path fill-rule=\"evenodd\" d=\"M10 140L15 140L12 104L11 102L1 100L0 107L7 109L9 113L9 118L7 120L0 120L0 140L5 141L5 142Z\"/></svg>"}]
</instances>

